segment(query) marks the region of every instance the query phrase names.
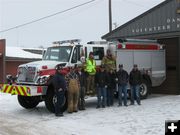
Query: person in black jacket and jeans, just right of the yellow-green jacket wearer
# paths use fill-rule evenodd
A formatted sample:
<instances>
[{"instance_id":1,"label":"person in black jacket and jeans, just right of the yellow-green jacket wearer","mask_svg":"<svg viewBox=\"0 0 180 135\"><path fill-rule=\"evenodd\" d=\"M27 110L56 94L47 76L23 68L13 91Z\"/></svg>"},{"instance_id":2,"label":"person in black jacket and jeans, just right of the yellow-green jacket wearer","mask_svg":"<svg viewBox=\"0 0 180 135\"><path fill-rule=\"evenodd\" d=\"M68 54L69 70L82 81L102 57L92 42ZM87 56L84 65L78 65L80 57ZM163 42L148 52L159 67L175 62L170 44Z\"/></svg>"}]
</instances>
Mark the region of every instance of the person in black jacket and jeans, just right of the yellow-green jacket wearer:
<instances>
[{"instance_id":1,"label":"person in black jacket and jeans, just right of the yellow-green jacket wearer","mask_svg":"<svg viewBox=\"0 0 180 135\"><path fill-rule=\"evenodd\" d=\"M103 65L101 65L100 67L100 72L96 73L95 84L97 87L97 107L96 108L100 108L100 105L102 105L102 107L105 108L107 86L108 86L108 74L106 73L105 67Z\"/></svg>"}]
</instances>

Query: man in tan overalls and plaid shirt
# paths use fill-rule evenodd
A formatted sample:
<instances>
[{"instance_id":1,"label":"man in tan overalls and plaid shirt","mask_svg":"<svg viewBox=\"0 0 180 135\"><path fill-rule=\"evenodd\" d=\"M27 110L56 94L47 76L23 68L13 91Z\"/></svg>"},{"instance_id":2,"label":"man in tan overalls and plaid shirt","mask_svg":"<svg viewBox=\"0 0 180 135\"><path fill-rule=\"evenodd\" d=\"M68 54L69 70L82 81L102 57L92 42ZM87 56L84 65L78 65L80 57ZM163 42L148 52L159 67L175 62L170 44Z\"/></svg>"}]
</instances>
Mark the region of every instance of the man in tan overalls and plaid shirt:
<instances>
[{"instance_id":1,"label":"man in tan overalls and plaid shirt","mask_svg":"<svg viewBox=\"0 0 180 135\"><path fill-rule=\"evenodd\" d=\"M67 89L68 89L68 112L78 111L78 100L79 100L79 79L76 74L77 66L75 65L70 69L70 72L66 75Z\"/></svg>"}]
</instances>

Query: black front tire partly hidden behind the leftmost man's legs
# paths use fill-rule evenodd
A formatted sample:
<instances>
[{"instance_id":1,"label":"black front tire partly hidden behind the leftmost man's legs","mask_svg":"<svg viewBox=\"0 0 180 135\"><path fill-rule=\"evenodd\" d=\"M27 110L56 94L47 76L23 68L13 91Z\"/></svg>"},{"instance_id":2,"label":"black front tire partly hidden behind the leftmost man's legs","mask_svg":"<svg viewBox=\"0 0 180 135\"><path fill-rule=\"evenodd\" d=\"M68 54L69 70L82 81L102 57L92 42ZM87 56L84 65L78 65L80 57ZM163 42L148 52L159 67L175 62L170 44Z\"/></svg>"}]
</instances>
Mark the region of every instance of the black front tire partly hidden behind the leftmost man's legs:
<instances>
[{"instance_id":1,"label":"black front tire partly hidden behind the leftmost man's legs","mask_svg":"<svg viewBox=\"0 0 180 135\"><path fill-rule=\"evenodd\" d=\"M67 96L66 95L67 94L65 94L65 97L64 97L63 107L61 108L63 112L67 109ZM48 89L48 92L45 98L45 105L46 105L46 108L52 113L55 112L54 99L55 99L54 90L52 88Z\"/></svg>"}]
</instances>

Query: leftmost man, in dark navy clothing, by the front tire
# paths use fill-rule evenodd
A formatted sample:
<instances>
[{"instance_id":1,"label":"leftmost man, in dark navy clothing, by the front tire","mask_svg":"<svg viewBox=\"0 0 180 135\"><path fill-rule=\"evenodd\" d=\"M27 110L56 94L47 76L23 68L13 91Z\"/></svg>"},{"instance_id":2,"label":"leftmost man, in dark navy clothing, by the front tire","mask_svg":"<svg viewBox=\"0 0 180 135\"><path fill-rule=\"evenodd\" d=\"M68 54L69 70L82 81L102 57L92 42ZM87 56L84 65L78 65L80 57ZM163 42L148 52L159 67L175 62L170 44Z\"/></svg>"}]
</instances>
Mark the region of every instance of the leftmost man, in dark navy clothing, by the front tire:
<instances>
[{"instance_id":1,"label":"leftmost man, in dark navy clothing, by the front tire","mask_svg":"<svg viewBox=\"0 0 180 135\"><path fill-rule=\"evenodd\" d=\"M58 117L63 116L62 106L64 103L66 81L64 75L62 74L64 64L59 64L56 66L56 74L53 78L53 85L55 90L55 115Z\"/></svg>"}]
</instances>

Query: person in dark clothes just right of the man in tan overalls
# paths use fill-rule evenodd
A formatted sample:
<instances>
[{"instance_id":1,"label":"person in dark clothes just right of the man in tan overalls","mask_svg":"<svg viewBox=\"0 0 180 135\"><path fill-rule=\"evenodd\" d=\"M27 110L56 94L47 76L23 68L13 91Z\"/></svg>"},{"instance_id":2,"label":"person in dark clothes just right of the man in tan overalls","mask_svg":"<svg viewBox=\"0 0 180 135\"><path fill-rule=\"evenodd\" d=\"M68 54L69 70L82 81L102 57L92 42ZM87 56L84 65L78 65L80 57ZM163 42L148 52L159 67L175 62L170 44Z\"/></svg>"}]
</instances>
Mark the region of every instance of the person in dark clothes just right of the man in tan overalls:
<instances>
[{"instance_id":1,"label":"person in dark clothes just right of the man in tan overalls","mask_svg":"<svg viewBox=\"0 0 180 135\"><path fill-rule=\"evenodd\" d=\"M85 88L86 88L86 74L84 69L78 66L77 75L80 83L80 91L79 91L79 110L85 110Z\"/></svg>"}]
</instances>

